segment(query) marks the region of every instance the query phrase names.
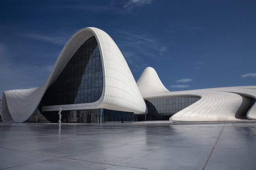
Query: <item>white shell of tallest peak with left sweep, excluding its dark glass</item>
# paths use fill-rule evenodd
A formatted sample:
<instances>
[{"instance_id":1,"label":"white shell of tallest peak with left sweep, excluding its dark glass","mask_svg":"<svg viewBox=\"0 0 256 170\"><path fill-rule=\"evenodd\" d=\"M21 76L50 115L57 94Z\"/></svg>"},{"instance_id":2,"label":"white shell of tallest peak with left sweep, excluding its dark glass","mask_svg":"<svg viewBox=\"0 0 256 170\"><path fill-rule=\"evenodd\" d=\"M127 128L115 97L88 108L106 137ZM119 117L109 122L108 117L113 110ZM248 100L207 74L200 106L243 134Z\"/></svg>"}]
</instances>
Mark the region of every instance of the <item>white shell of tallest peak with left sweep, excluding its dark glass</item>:
<instances>
[{"instance_id":1,"label":"white shell of tallest peak with left sweep, excluding its dark glass","mask_svg":"<svg viewBox=\"0 0 256 170\"><path fill-rule=\"evenodd\" d=\"M3 93L1 108L2 120L4 122L23 122L27 120L38 107L47 89L63 73L65 66L70 62L79 47L92 37L95 37L97 40L97 47L95 48L99 49L101 56L100 64L102 64L103 86L99 99L80 104L43 106L43 110L54 111L60 107L62 110L106 108L134 112L136 114L146 114L147 108L144 99L117 45L104 31L94 27L88 27L76 32L70 38L61 51L49 77L40 87L27 90L5 91ZM88 43L90 42L88 41ZM91 51L91 55L94 52L95 50ZM83 53L82 49L81 53ZM90 69L93 70L94 68ZM92 84L92 86L95 85Z\"/></svg>"}]
</instances>

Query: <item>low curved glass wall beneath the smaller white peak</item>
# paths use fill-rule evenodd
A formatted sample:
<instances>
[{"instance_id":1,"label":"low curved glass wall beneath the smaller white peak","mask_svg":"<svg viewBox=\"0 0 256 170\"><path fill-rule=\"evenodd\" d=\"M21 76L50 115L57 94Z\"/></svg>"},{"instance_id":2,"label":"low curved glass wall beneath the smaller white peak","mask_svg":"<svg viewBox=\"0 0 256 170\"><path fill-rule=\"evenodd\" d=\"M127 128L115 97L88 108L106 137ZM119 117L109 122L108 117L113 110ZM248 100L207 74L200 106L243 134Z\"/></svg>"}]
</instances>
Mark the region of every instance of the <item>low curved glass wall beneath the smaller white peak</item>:
<instances>
[{"instance_id":1,"label":"low curved glass wall beneath the smaller white peak","mask_svg":"<svg viewBox=\"0 0 256 170\"><path fill-rule=\"evenodd\" d=\"M145 100L148 107L146 120L169 120L169 118L178 111L197 102L200 97L170 97L161 99ZM144 116L136 115L137 121L144 121Z\"/></svg>"}]
</instances>

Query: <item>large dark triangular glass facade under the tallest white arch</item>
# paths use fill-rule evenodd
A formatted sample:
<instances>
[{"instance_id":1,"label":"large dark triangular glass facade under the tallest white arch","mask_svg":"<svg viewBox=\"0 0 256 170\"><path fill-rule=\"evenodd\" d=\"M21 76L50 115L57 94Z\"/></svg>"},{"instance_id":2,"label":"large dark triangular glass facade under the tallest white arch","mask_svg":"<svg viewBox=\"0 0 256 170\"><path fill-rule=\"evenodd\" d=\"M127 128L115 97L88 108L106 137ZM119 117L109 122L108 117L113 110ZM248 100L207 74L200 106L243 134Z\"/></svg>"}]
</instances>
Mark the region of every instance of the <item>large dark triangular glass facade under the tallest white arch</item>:
<instances>
[{"instance_id":1,"label":"large dark triangular glass facade under the tallest white arch","mask_svg":"<svg viewBox=\"0 0 256 170\"><path fill-rule=\"evenodd\" d=\"M76 51L39 104L42 106L92 103L103 90L101 55L96 38L89 38Z\"/></svg>"}]
</instances>

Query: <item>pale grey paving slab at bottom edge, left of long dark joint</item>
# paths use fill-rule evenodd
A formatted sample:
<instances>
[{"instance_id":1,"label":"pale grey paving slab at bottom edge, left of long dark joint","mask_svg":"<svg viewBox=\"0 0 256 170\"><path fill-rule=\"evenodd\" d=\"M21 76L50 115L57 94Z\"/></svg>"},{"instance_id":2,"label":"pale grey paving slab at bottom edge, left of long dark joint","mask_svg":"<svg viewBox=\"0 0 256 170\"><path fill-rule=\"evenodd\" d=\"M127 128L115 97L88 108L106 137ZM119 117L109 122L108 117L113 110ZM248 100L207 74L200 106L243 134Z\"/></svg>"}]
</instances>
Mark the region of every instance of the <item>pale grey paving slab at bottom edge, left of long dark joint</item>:
<instances>
[{"instance_id":1,"label":"pale grey paving slab at bottom edge, left of long dark joint","mask_svg":"<svg viewBox=\"0 0 256 170\"><path fill-rule=\"evenodd\" d=\"M210 152L211 147L165 146L121 165L150 170L198 170L202 169Z\"/></svg>"}]
</instances>

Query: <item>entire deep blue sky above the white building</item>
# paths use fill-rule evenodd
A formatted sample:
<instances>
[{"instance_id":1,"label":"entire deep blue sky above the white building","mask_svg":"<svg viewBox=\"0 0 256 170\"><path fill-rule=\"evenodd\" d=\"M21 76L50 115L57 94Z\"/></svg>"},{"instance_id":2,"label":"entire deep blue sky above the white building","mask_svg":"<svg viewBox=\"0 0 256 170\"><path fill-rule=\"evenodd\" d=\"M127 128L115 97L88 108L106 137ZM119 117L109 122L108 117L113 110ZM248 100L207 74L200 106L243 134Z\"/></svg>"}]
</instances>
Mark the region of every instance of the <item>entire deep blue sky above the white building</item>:
<instances>
[{"instance_id":1,"label":"entire deep blue sky above the white building","mask_svg":"<svg viewBox=\"0 0 256 170\"><path fill-rule=\"evenodd\" d=\"M255 0L1 0L0 93L40 86L88 26L136 81L151 66L169 91L256 85Z\"/></svg>"}]
</instances>

